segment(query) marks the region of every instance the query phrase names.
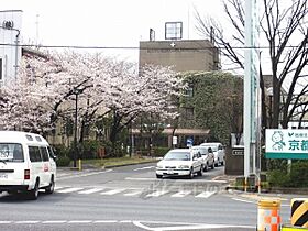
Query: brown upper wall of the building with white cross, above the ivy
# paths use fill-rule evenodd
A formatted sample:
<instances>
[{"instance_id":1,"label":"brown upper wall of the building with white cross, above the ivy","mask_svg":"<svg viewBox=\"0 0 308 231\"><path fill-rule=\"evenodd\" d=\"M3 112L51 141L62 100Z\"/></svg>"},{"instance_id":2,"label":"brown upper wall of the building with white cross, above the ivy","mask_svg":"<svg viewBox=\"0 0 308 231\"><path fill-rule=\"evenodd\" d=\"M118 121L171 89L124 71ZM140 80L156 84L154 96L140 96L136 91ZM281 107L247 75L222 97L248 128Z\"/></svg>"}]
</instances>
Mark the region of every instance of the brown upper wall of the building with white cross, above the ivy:
<instances>
[{"instance_id":1,"label":"brown upper wall of the building with white cross, above the ivy","mask_svg":"<svg viewBox=\"0 0 308 231\"><path fill-rule=\"evenodd\" d=\"M220 69L219 50L208 40L140 42L140 66L174 66L176 72Z\"/></svg>"}]
</instances>

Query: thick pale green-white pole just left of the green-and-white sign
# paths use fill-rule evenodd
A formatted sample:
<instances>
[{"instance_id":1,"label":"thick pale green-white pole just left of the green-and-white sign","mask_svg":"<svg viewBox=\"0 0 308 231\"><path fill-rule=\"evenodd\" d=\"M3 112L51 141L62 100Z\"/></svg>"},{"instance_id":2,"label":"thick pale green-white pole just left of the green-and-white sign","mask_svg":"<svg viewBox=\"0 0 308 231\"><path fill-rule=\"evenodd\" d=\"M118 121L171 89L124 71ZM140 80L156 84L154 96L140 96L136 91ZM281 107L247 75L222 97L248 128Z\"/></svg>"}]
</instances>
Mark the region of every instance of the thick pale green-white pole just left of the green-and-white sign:
<instances>
[{"instance_id":1,"label":"thick pale green-white pole just left of the green-and-white sign","mask_svg":"<svg viewBox=\"0 0 308 231\"><path fill-rule=\"evenodd\" d=\"M258 3L245 1L245 76L244 76L244 176L256 174L256 154L260 142L260 52Z\"/></svg>"}]
</instances>

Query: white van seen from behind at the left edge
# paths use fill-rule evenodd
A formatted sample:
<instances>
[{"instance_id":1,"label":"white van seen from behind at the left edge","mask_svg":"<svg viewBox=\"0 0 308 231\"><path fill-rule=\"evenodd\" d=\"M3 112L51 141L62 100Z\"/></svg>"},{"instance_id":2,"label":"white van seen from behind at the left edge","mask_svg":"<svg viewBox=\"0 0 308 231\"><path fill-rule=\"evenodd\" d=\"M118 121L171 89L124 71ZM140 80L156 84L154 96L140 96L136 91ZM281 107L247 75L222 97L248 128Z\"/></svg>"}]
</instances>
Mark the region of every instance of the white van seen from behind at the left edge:
<instances>
[{"instance_id":1,"label":"white van seen from behind at the left edge","mask_svg":"<svg viewBox=\"0 0 308 231\"><path fill-rule=\"evenodd\" d=\"M55 155L41 135L0 131L0 193L26 193L37 199L38 190L55 188Z\"/></svg>"}]
</instances>

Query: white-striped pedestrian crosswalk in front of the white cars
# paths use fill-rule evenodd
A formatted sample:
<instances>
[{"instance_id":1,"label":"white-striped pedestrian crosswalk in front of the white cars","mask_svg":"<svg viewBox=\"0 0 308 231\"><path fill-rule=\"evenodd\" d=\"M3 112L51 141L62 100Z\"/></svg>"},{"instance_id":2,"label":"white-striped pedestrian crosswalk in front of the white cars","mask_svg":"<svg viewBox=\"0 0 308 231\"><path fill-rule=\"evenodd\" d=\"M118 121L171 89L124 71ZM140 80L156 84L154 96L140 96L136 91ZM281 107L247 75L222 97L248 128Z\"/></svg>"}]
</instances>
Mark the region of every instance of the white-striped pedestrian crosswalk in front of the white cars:
<instances>
[{"instance_id":1,"label":"white-striped pedestrian crosswalk in front of the white cars","mask_svg":"<svg viewBox=\"0 0 308 231\"><path fill-rule=\"evenodd\" d=\"M101 195L113 196L122 195L125 197L143 197L143 198L157 198L169 196L173 198L195 197L195 198L209 198L216 191L194 191L187 189L142 189L142 188L103 188L103 187L73 187L73 186L56 186L56 194L78 194L78 195Z\"/></svg>"}]
</instances>

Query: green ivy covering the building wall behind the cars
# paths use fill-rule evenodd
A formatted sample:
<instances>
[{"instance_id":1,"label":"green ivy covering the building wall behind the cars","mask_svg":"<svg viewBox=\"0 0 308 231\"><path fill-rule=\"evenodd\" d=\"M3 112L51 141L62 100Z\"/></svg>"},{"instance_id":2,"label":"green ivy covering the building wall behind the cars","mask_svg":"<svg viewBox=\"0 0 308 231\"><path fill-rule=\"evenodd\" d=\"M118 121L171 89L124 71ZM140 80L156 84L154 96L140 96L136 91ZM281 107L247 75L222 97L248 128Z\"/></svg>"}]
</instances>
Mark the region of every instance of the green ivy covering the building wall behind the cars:
<instances>
[{"instance_id":1,"label":"green ivy covering the building wall behind the cars","mask_svg":"<svg viewBox=\"0 0 308 231\"><path fill-rule=\"evenodd\" d=\"M210 129L211 139L229 144L230 134L243 132L242 79L230 73L186 73L194 86L193 97L182 98L183 108L194 108L194 120L184 120L185 128Z\"/></svg>"}]
</instances>

